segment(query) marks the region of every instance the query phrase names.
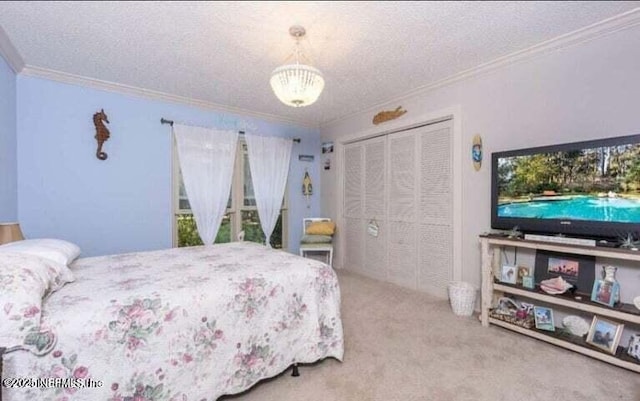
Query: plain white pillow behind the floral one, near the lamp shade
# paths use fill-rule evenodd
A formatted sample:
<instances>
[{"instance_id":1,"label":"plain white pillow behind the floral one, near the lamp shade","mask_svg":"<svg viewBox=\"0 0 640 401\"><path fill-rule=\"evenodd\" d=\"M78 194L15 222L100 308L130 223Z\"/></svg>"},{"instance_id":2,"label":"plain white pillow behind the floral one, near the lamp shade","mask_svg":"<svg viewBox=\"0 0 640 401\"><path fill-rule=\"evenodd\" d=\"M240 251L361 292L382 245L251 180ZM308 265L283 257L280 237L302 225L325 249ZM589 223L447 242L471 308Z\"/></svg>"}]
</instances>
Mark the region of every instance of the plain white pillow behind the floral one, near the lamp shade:
<instances>
[{"instance_id":1,"label":"plain white pillow behind the floral one, near the lamp shade","mask_svg":"<svg viewBox=\"0 0 640 401\"><path fill-rule=\"evenodd\" d=\"M19 252L50 259L65 266L80 256L80 247L69 241L42 238L26 239L0 245L0 252Z\"/></svg>"}]
</instances>

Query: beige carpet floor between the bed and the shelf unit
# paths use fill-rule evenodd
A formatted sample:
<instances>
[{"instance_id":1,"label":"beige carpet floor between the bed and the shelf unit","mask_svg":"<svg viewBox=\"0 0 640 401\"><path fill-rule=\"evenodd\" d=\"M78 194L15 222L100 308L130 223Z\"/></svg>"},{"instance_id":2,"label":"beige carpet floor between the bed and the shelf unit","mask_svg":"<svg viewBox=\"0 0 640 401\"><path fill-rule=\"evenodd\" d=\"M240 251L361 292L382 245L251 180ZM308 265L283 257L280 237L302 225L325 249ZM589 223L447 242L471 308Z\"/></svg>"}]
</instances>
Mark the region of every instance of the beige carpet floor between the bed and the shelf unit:
<instances>
[{"instance_id":1,"label":"beige carpet floor between the bed and the shelf unit","mask_svg":"<svg viewBox=\"0 0 640 401\"><path fill-rule=\"evenodd\" d=\"M457 317L448 301L339 271L345 357L228 401L640 401L640 374Z\"/></svg>"}]
</instances>

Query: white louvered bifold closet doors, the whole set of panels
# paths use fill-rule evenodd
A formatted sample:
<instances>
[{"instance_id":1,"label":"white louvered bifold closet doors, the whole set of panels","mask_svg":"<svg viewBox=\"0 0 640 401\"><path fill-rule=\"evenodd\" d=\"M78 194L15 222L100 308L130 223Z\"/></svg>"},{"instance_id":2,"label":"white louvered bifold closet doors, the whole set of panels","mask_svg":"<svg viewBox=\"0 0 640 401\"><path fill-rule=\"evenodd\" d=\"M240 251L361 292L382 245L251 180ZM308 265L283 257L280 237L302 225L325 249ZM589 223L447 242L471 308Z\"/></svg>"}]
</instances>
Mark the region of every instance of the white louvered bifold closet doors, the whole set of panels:
<instances>
[{"instance_id":1,"label":"white louvered bifold closet doors, the whole set of panels","mask_svg":"<svg viewBox=\"0 0 640 401\"><path fill-rule=\"evenodd\" d=\"M345 145L347 269L446 297L453 276L451 132L445 121Z\"/></svg>"}]
</instances>

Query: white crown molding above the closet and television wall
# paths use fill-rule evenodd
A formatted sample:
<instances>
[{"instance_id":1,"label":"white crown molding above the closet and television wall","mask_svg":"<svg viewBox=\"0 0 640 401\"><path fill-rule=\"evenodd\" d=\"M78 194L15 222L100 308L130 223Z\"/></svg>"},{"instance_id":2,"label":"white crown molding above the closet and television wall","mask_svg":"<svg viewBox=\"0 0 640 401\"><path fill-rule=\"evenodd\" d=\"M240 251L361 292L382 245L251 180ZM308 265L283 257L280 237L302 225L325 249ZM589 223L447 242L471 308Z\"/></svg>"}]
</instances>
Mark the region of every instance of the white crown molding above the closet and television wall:
<instances>
[{"instance_id":1,"label":"white crown molding above the closet and television wall","mask_svg":"<svg viewBox=\"0 0 640 401\"><path fill-rule=\"evenodd\" d=\"M444 86L449 86L469 78L475 78L490 73L507 65L529 60L536 56L541 56L543 54L549 53L551 51L560 50L567 47L579 45L581 43L589 42L610 35L612 33L622 31L624 29L632 28L638 24L640 24L640 7L604 19L594 24L587 25L584 28L580 28L575 31L546 40L527 49L519 50L517 52L507 54L506 56L499 57L487 63L480 64L476 67L469 68L434 83L419 86L411 90L410 92L403 94L402 96L398 96L390 100L385 100L384 102L380 102L371 107L367 107L364 110L338 117L331 121L323 122L321 124L321 127L337 124L342 121L348 120L349 118L362 114L369 114L377 110L379 111L381 107L388 106L389 104L397 104L398 102L406 101L415 96L424 95Z\"/></svg>"}]
</instances>

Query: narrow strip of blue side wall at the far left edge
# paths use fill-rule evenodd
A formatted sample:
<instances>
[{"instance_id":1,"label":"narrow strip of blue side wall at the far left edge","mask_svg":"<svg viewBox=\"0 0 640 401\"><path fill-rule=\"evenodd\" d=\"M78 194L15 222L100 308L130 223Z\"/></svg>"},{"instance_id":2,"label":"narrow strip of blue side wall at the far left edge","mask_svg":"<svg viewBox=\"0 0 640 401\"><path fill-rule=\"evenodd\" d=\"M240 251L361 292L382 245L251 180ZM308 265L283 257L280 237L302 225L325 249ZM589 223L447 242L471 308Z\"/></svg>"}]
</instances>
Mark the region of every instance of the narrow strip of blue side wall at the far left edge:
<instances>
[{"instance_id":1,"label":"narrow strip of blue side wall at the far left edge","mask_svg":"<svg viewBox=\"0 0 640 401\"><path fill-rule=\"evenodd\" d=\"M16 75L0 56L0 222L18 219Z\"/></svg>"}]
</instances>

